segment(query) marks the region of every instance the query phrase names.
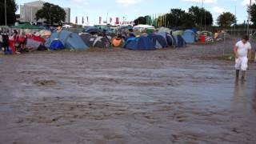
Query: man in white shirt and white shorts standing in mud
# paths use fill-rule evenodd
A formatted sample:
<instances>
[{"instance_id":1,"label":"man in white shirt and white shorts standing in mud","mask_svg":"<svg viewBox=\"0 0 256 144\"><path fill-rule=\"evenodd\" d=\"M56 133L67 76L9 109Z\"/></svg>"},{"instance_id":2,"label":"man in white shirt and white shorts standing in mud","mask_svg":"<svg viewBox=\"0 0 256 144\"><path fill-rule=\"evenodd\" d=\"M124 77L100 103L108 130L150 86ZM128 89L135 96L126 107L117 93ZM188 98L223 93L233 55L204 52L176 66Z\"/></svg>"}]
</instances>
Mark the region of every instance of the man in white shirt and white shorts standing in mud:
<instances>
[{"instance_id":1,"label":"man in white shirt and white shorts standing in mud","mask_svg":"<svg viewBox=\"0 0 256 144\"><path fill-rule=\"evenodd\" d=\"M242 81L245 80L248 67L248 58L251 59L251 46L247 35L234 46L236 78L239 78L239 72L242 71Z\"/></svg>"}]
</instances>

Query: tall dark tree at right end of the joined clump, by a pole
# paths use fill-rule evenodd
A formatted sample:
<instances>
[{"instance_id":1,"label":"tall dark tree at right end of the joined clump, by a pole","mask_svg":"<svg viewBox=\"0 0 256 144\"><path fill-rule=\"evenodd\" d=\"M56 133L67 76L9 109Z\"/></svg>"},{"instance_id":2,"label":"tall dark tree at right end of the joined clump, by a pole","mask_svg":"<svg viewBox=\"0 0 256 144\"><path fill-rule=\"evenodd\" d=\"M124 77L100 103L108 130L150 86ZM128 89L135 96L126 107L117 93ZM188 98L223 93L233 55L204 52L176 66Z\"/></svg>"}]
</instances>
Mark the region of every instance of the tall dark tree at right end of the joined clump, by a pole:
<instances>
[{"instance_id":1,"label":"tall dark tree at right end of the joined clump, by a pole","mask_svg":"<svg viewBox=\"0 0 256 144\"><path fill-rule=\"evenodd\" d=\"M210 11L205 10L204 8L199 8L198 6L191 6L189 14L192 17L195 26L211 26L214 22L213 15Z\"/></svg>"}]
</instances>

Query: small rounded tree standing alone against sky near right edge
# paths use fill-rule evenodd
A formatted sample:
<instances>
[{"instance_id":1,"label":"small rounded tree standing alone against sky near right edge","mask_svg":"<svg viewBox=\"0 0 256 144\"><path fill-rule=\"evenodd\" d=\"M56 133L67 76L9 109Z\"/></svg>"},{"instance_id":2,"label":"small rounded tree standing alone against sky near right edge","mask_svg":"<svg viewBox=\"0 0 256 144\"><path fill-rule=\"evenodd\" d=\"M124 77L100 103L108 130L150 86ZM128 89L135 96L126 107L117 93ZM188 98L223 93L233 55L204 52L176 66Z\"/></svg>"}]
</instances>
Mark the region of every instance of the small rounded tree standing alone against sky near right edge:
<instances>
[{"instance_id":1,"label":"small rounded tree standing alone against sky near right edge","mask_svg":"<svg viewBox=\"0 0 256 144\"><path fill-rule=\"evenodd\" d=\"M224 12L220 14L217 18L218 26L221 26L223 28L230 27L236 21L237 18L234 16L234 14L231 14L230 12Z\"/></svg>"}]
</instances>

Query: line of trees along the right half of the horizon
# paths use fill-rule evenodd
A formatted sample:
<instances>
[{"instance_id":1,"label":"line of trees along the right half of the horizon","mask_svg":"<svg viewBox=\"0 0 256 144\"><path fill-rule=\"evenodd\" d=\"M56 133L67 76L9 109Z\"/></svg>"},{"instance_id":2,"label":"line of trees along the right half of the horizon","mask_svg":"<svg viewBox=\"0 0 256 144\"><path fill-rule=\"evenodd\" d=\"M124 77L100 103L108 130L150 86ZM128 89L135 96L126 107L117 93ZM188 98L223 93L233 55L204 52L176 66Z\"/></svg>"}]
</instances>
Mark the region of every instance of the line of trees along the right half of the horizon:
<instances>
[{"instance_id":1,"label":"line of trees along the right half of the horizon","mask_svg":"<svg viewBox=\"0 0 256 144\"><path fill-rule=\"evenodd\" d=\"M250 14L250 21L253 23L253 26L256 27L256 4L248 6L247 12ZM157 27L166 26L181 29L209 27L213 25L213 22L214 19L210 11L198 6L191 6L188 12L182 9L171 9L167 14L160 16L146 15L134 20L135 25L148 24ZM243 24L237 25L237 18L234 14L223 12L218 16L217 24L221 28L230 28L230 26L234 25L242 27L246 25L246 21Z\"/></svg>"}]
</instances>

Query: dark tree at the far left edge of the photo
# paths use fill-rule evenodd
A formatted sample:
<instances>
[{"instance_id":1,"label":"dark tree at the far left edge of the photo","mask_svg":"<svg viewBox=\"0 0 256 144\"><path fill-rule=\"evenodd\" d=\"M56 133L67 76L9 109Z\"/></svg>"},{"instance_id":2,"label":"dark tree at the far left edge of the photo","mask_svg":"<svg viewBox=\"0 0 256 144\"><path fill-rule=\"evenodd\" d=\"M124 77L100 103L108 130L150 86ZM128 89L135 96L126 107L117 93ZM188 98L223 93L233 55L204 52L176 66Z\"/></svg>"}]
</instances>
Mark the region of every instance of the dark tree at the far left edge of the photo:
<instances>
[{"instance_id":1,"label":"dark tree at the far left edge of the photo","mask_svg":"<svg viewBox=\"0 0 256 144\"><path fill-rule=\"evenodd\" d=\"M6 15L5 17L5 1L0 1L0 25L5 25L6 20L8 25L14 24L16 22L15 12L18 10L18 6L15 0L6 0Z\"/></svg>"}]
</instances>

